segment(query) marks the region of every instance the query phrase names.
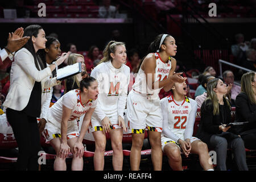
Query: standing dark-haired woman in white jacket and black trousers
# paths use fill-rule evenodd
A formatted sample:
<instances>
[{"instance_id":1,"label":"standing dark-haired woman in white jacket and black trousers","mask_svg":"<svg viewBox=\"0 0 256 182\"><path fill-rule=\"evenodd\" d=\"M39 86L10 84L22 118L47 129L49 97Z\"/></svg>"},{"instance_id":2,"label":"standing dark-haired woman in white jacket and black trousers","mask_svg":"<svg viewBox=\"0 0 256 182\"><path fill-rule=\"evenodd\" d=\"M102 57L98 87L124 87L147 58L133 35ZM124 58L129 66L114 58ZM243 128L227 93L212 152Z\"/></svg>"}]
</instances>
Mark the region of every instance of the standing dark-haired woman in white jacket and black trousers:
<instances>
[{"instance_id":1,"label":"standing dark-haired woman in white jacket and black trousers","mask_svg":"<svg viewBox=\"0 0 256 182\"><path fill-rule=\"evenodd\" d=\"M30 40L15 53L15 61L11 65L10 89L3 106L7 108L7 121L13 128L18 143L16 169L38 170L40 138L36 117L40 116L42 88L56 83L56 80L49 81L48 77L67 56L57 60L56 65L44 68L36 55L39 49L46 47L47 39L43 28L39 25L28 26L24 30L24 36L30 36Z\"/></svg>"}]
</instances>

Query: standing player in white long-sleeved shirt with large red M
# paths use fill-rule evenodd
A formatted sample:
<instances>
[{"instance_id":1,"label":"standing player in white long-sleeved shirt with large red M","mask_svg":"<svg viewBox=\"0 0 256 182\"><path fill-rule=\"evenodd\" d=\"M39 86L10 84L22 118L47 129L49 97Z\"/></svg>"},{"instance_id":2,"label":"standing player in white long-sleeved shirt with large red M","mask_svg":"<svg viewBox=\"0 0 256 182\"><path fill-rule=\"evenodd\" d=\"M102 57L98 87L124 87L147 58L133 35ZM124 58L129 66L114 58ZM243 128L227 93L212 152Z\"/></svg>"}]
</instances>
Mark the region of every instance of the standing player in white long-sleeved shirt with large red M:
<instances>
[{"instance_id":1,"label":"standing player in white long-sleeved shirt with large red M","mask_svg":"<svg viewBox=\"0 0 256 182\"><path fill-rule=\"evenodd\" d=\"M126 48L122 42L110 41L104 49L104 57L90 74L99 83L98 105L92 115L90 133L95 139L94 169L104 169L106 135L110 134L113 149L113 168L121 171L123 166L122 138L127 131L123 120L130 68L126 63Z\"/></svg>"}]
</instances>

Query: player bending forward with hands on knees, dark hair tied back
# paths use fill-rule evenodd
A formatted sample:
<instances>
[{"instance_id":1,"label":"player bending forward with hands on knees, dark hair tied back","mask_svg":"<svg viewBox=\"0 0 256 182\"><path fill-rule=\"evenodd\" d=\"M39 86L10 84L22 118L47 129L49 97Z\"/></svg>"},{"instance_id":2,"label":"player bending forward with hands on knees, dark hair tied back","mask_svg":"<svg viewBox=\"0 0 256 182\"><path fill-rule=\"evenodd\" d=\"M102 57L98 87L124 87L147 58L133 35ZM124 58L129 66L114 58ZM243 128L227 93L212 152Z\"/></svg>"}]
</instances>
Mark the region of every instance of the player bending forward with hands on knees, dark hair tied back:
<instances>
[{"instance_id":1,"label":"player bending forward with hands on knees, dark hair tied back","mask_svg":"<svg viewBox=\"0 0 256 182\"><path fill-rule=\"evenodd\" d=\"M88 130L90 117L97 104L98 83L93 77L86 77L80 81L80 89L71 90L64 94L48 112L46 129L43 132L46 142L56 151L54 169L67 169L65 158L69 151L73 154L73 171L81 171L83 167L82 155L84 146L82 139ZM85 114L81 133L77 118ZM78 138L77 138L78 137Z\"/></svg>"}]
</instances>

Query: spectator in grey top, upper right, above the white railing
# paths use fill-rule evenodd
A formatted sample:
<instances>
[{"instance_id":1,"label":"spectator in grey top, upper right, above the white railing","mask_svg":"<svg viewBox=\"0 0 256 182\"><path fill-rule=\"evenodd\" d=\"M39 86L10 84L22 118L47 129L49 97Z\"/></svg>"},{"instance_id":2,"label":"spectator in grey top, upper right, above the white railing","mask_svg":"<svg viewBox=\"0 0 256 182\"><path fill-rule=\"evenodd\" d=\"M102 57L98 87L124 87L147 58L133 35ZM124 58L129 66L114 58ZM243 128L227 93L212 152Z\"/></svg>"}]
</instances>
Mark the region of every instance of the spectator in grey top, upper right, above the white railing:
<instances>
[{"instance_id":1,"label":"spectator in grey top, upper right, above the white railing","mask_svg":"<svg viewBox=\"0 0 256 182\"><path fill-rule=\"evenodd\" d=\"M231 46L232 55L236 58L237 62L240 63L240 60L245 57L245 51L249 48L247 45L248 42L245 42L245 37L243 34L235 35L236 44Z\"/></svg>"}]
</instances>

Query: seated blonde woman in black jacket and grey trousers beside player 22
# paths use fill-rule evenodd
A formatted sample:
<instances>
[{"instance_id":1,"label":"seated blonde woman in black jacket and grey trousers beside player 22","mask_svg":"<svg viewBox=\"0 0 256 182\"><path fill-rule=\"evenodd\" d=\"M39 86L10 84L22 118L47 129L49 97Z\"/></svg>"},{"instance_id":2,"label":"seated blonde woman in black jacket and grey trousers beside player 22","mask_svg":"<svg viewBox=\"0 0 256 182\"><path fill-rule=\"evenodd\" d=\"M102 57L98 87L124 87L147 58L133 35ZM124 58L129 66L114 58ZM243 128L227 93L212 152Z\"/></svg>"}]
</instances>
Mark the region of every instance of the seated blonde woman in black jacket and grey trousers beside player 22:
<instances>
[{"instance_id":1,"label":"seated blonde woman in black jacket and grey trousers beside player 22","mask_svg":"<svg viewBox=\"0 0 256 182\"><path fill-rule=\"evenodd\" d=\"M217 153L217 169L226 171L227 148L234 150L234 158L239 170L248 170L243 140L226 124L231 121L230 103L224 97L226 84L219 78L207 84L207 99L201 106L201 121L196 137L214 148Z\"/></svg>"}]
</instances>

